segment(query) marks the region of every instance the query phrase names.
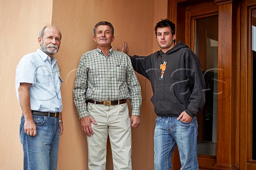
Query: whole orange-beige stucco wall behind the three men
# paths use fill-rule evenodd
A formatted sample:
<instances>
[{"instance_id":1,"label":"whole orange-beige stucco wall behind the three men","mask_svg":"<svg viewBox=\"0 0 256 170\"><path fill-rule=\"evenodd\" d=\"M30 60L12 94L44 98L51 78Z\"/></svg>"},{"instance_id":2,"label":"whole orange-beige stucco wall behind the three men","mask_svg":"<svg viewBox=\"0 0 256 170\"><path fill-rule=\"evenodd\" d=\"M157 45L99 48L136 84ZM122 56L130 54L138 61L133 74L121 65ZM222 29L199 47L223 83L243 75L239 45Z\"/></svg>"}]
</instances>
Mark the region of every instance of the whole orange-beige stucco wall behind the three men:
<instances>
[{"instance_id":1,"label":"whole orange-beige stucco wall behind the three men","mask_svg":"<svg viewBox=\"0 0 256 170\"><path fill-rule=\"evenodd\" d=\"M93 28L109 21L115 28L113 48L123 41L129 54L149 55L158 50L154 26L167 17L167 0L63 1L0 0L0 169L22 169L19 141L20 109L15 96L15 67L20 58L38 47L44 25L56 25L62 32L59 52L63 98L64 133L60 138L58 169L87 169L86 137L73 103L73 87L79 58L96 47ZM133 169L154 169L155 113L150 102L151 86L138 74L142 89L141 126L132 130ZM107 169L113 169L108 143Z\"/></svg>"}]
</instances>

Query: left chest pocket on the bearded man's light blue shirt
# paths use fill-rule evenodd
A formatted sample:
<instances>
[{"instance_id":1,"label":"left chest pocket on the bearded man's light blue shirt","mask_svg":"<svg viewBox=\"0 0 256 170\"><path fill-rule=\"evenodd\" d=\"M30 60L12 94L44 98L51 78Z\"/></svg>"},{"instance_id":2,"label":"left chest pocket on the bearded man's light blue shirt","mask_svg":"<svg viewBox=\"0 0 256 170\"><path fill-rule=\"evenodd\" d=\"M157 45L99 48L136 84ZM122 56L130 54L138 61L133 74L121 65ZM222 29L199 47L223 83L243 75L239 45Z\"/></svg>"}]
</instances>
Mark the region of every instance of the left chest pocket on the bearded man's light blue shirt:
<instances>
[{"instance_id":1,"label":"left chest pocket on the bearded man's light blue shirt","mask_svg":"<svg viewBox=\"0 0 256 170\"><path fill-rule=\"evenodd\" d=\"M36 71L36 85L49 87L53 85L51 72L49 70L37 69Z\"/></svg>"}]
</instances>

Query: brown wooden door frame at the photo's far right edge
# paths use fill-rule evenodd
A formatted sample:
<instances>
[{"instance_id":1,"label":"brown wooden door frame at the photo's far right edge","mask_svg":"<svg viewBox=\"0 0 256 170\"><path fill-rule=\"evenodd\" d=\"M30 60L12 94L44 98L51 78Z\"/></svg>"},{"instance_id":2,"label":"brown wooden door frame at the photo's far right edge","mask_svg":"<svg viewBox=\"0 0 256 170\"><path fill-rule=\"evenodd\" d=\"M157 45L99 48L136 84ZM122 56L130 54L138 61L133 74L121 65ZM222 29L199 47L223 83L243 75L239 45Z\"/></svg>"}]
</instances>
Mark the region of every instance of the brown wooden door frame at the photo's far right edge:
<instances>
[{"instance_id":1,"label":"brown wooden door frame at the photo's far right edge","mask_svg":"<svg viewBox=\"0 0 256 170\"><path fill-rule=\"evenodd\" d=\"M256 169L252 160L252 30L251 11L256 8L255 0L241 2L241 114L240 156L241 169ZM247 113L247 114L242 114Z\"/></svg>"}]
</instances>

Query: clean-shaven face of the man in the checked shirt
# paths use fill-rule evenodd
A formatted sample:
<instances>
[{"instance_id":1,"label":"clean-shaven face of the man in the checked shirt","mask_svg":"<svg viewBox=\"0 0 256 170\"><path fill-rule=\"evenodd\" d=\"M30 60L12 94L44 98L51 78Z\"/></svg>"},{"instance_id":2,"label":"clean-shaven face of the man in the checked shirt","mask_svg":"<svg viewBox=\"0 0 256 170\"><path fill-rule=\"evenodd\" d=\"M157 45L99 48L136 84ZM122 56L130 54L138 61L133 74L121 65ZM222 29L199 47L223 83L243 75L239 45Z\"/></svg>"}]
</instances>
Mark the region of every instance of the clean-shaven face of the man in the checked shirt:
<instances>
[{"instance_id":1,"label":"clean-shaven face of the man in the checked shirt","mask_svg":"<svg viewBox=\"0 0 256 170\"><path fill-rule=\"evenodd\" d=\"M93 39L98 44L98 48L110 48L111 43L114 41L115 37L112 35L109 25L99 25L96 29L96 34Z\"/></svg>"}]
</instances>

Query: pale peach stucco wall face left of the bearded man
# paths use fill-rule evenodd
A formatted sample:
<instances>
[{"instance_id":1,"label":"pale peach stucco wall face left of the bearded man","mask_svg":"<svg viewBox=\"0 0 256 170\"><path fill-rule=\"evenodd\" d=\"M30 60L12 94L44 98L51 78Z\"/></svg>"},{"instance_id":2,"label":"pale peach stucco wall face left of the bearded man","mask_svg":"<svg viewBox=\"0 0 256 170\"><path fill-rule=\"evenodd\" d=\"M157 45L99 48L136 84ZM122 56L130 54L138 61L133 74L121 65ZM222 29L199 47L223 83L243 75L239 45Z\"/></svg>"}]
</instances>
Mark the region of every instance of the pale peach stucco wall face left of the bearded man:
<instances>
[{"instance_id":1,"label":"pale peach stucco wall face left of the bearded man","mask_svg":"<svg viewBox=\"0 0 256 170\"><path fill-rule=\"evenodd\" d=\"M52 0L0 0L0 169L23 169L15 68L23 55L39 47L39 30L51 21Z\"/></svg>"}]
</instances>

